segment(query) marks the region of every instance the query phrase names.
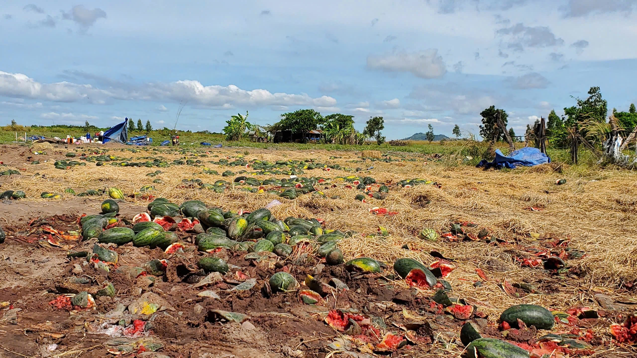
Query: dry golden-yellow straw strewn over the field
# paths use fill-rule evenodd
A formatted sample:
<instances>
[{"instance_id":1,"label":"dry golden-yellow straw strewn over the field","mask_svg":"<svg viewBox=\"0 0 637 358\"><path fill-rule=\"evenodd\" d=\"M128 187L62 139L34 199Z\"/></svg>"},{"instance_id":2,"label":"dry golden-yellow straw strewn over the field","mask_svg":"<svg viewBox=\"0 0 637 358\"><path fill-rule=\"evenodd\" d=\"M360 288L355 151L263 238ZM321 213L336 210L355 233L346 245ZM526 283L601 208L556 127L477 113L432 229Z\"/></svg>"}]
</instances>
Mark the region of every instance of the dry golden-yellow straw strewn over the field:
<instances>
[{"instance_id":1,"label":"dry golden-yellow straw strewn over the field","mask_svg":"<svg viewBox=\"0 0 637 358\"><path fill-rule=\"evenodd\" d=\"M219 157L238 155L236 150L211 152ZM250 149L247 159L276 161L282 159L317 159L320 162L338 163L350 168L366 168L370 162L360 161L355 152L326 151L287 151ZM131 156L130 152L109 152L115 155ZM243 151L240 152L243 154ZM152 155L142 151L141 156ZM172 160L184 157L182 154L161 155ZM342 157L329 159L331 156ZM193 158L195 159L195 158ZM204 161L218 158L199 158ZM206 203L222 206L227 210L254 210L266 206L273 199L283 204L273 208L277 217L317 217L326 220L331 229L353 229L359 233L353 240L345 240L341 248L346 257L369 256L385 261L391 266L400 257L413 257L426 264L433 262L432 250L442 252L456 260L457 269L448 278L454 287L454 294L477 304L480 310L497 318L499 312L513 304L533 303L547 306L552 310L565 310L570 306L583 303L585 306L599 307L593 296L596 287L618 289L624 280L637 278L637 226L634 225L637 202L637 175L629 171L599 172L590 178L566 177L564 185L555 185L562 178L556 173L566 169L564 165L543 166L531 169L501 171L482 171L466 166L448 168L444 165L425 164L426 158L418 161L373 162L375 167L369 173L378 183L396 183L406 178L425 178L441 183L441 189L434 185L417 185L404 189L390 186L389 196L385 200L367 199L367 203L355 201L355 189L346 189L343 185L335 188L323 185L327 197L305 195L296 200L282 199L271 194L252 194L238 189L228 189L217 194L206 189L182 187L182 179L199 178L203 182L213 183L224 179L232 181L234 176L223 178L220 175L203 174L194 166L171 166L160 168L164 173L155 177L163 183L153 184L153 177L147 173L157 168L117 168L111 166L96 167L88 164L62 171L54 169L52 163L29 166L21 178L11 183L14 190L24 190L28 200L44 201L40 192L59 192L71 187L76 192L86 189L106 189L118 187L125 193L136 192L143 185L154 185L155 196L166 197L180 203L189 199L200 199ZM235 173L245 168L219 167L206 164L218 173L227 169ZM247 169L251 171L251 169ZM38 172L43 176L33 176ZM341 170L330 172L314 169L306 171L306 176L345 176ZM281 176L278 176L281 177ZM265 179L267 176L259 176ZM6 186L6 185L5 185ZM327 187L327 189L325 188ZM64 194L66 201L72 196ZM105 197L96 198L96 201ZM427 201L429 201L428 204ZM140 203L142 203L140 201ZM369 208L380 206L397 211L392 217L378 217L369 213ZM541 208L531 211L529 207ZM488 229L490 233L506 241L520 245L487 245L482 242L423 241L417 237L420 230L432 227L438 233L448 231L451 222L475 222L479 229ZM390 236L366 237L363 234L376 233L379 227L385 227ZM527 245L538 245L531 240L530 233L552 233L554 238L569 240L569 246L587 252L582 259L571 260L582 278L546 278L538 275L538 269L522 268L515 264L513 256L524 257L522 250ZM408 244L410 250L401 248ZM490 268L489 262L500 262L506 271L499 272ZM475 287L478 280L476 268L482 268L493 282ZM550 295L531 294L522 299L511 298L503 292L499 283L529 282L538 285ZM397 283L404 285L404 283ZM429 295L430 292L422 292ZM562 327L566 329L566 327ZM606 328L596 327L596 331L605 332ZM610 346L609 346L610 347ZM617 352L615 352L617 353Z\"/></svg>"}]
</instances>

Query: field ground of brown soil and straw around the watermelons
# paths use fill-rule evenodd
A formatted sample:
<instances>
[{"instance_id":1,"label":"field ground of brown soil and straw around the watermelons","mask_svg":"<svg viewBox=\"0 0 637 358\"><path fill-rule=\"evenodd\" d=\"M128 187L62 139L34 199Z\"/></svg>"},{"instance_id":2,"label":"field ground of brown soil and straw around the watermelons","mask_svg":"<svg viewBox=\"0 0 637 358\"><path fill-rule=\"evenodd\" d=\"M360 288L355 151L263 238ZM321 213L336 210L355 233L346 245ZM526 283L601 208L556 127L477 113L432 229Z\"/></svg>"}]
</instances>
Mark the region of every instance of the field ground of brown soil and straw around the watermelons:
<instances>
[{"instance_id":1,"label":"field ground of brown soil and straw around the watermelons","mask_svg":"<svg viewBox=\"0 0 637 358\"><path fill-rule=\"evenodd\" d=\"M485 337L515 342L538 356L637 356L637 350L617 342L610 334L611 324L622 324L636 311L634 173L596 171L572 177L555 171L557 166L482 171L445 166L433 156L390 154L392 160L385 162L363 161L359 152L254 148L208 148L208 152L201 149L196 153L140 148L132 153L130 147L109 147L106 152L129 159L127 162L154 157L167 162L198 159L201 167L96 166L80 159L81 153L101 150L0 147L0 161L5 165L0 171L19 172L0 176L0 192L24 190L27 196L0 203L0 226L6 232L6 241L0 244L0 357L115 357L107 348L120 357L461 355L464 345L459 332L467 319L450 314L431 300L438 287L413 287L396 275L392 265L402 257L417 259L426 266L441 257L448 259L455 267L444 277L452 287L448 296L475 306L469 320L480 326ZM42 151L47 154L33 154ZM76 152L77 157L65 157L69 151ZM267 188L265 192L247 192L231 186L215 192L183 182L233 182L238 175L250 176L254 171L250 167L209 162L222 158L233 161L239 156L248 162L311 159L321 164L340 164L340 168L304 169L298 176L327 179L315 187L324 195L311 192L292 200L269 194ZM86 165L55 169L54 162L61 159ZM34 160L39 164L31 164ZM123 160L117 160L120 161ZM163 173L147 176L157 169ZM222 176L227 170L233 175ZM246 173L240 174L242 170ZM384 199L366 196L364 201L355 200L357 194L362 194L356 185L334 180L348 175L371 176L379 185L387 185L389 192ZM255 177L264 180L289 175ZM157 178L161 182L153 182ZM433 183L397 185L412 178ZM561 178L566 183L557 185L555 180ZM144 185L153 185L155 190L140 192ZM130 243L111 247L119 254L120 268L143 267L152 259L168 259L166 273L149 275L156 276L152 280L122 269L111 268L107 272L84 258L67 258L68 252L90 252L96 239L69 238L57 246L47 245L51 233L48 226L58 232L80 231L80 215L99 213L102 201L108 198L106 194L76 196L66 189L78 194L108 187L117 187L127 195L137 193L120 203L118 219L122 225L122 219L132 220L136 213L147 211L148 195L165 197L177 204L196 199L209 207L232 211L264 208L276 199L281 202L271 208L276 218L320 218L325 229L355 231L353 238L338 244L345 261L371 257L387 264L387 268L380 274L355 273L342 264L327 265L311 250L307 255L295 251L288 259L257 260L247 257L245 251L222 250L215 255L229 264L229 273L207 286L197 286L201 281L190 282L187 274L201 257L192 244L194 233L176 231L185 245L179 254L133 247ZM60 197L43 199L41 192ZM390 215L375 215L370 211L373 208L385 208ZM452 227L453 224L458 226ZM441 237L435 241L420 238L419 233L425 228L434 229ZM336 289L317 304L303 303L297 290L269 294L268 279L280 271L291 273L301 290L307 288L303 283L308 274L325 283L337 278L348 290ZM253 278L256 283L251 289L233 289ZM94 310L56 308L51 303L62 294L94 294L107 280L115 287L116 295L96 298ZM201 296L206 290L214 291L216 297ZM131 311L131 305L145 303L154 303L157 311ZM552 330L508 330L499 326L500 314L522 303L553 311L557 319ZM219 310L247 317L229 322ZM336 324L326 324L326 317L335 310L346 310L346 321L347 315L356 316L352 319L359 320L362 332L343 332ZM401 337L400 347L383 348L380 341L387 333ZM537 339L547 333L570 334L569 338L585 342L585 346L565 349L553 342L538 343ZM145 348L140 349L140 345ZM161 348L150 352L148 347Z\"/></svg>"}]
</instances>

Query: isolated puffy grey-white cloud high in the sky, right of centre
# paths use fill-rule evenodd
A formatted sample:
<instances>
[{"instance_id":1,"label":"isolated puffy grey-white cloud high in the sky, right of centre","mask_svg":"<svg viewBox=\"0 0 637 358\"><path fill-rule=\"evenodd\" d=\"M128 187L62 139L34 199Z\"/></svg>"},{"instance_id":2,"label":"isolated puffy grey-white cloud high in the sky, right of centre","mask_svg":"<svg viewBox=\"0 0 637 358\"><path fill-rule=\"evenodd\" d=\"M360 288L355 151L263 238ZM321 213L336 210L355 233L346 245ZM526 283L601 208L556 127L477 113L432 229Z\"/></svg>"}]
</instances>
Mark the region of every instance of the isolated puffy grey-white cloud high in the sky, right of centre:
<instances>
[{"instance_id":1,"label":"isolated puffy grey-white cloud high in the sky, right of centre","mask_svg":"<svg viewBox=\"0 0 637 358\"><path fill-rule=\"evenodd\" d=\"M410 72L420 78L437 78L447 73L447 67L436 48L422 52L393 52L369 55L367 66L383 71Z\"/></svg>"}]
</instances>

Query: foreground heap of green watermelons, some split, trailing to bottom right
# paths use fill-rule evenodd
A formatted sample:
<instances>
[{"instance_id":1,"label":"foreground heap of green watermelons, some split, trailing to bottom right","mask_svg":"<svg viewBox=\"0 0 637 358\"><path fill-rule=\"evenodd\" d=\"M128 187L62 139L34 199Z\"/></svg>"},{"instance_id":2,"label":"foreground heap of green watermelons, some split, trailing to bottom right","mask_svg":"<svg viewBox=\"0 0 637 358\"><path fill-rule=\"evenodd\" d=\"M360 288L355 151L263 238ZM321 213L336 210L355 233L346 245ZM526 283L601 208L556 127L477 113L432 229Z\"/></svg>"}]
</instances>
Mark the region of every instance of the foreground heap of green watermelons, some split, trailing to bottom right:
<instances>
[{"instance_id":1,"label":"foreground heap of green watermelons, some split, trailing to bottom right","mask_svg":"<svg viewBox=\"0 0 637 358\"><path fill-rule=\"evenodd\" d=\"M351 272L374 274L381 273L387 268L383 262L369 257L357 257L345 262L338 244L342 240L354 238L357 233L326 229L321 220L316 218L287 217L281 220L267 208L249 213L234 212L208 207L202 201L193 200L176 204L168 199L158 198L148 204L147 212L135 215L132 222L125 222L125 226L117 226L122 224L116 217L118 209L118 203L108 199L102 204L103 213L81 217L80 224L85 240L97 238L98 243L116 245L132 242L135 247L161 248L166 253L173 254L186 250L187 245L192 245L189 241L180 240L180 236L189 237L194 239L190 241L196 245L197 250L203 253L197 261L199 271L193 274L199 278L194 282L198 282L197 280L201 280L209 273L218 272L224 275L229 271L227 262L215 255L220 249L247 252L246 259L289 257L298 250L302 250L302 252L325 258L328 265L343 264L343 267ZM180 235L178 232L184 234ZM0 234L2 234L1 231ZM194 238L192 238L193 235ZM95 245L92 252L83 252L82 255L89 257L91 262L96 264L117 262L118 259L117 252L100 245ZM139 273L145 271L150 275L163 275L166 266L166 259L155 259L147 262L143 267L127 269L135 269ZM529 357L526 350L512 343L495 338L483 338L480 327L470 320L473 317L483 316L480 316L475 306L468 304L464 299L450 296L452 287L443 280L454 269L450 262L440 260L426 266L415 259L403 258L394 262L393 269L396 275L391 273L383 273L383 275L388 278L403 279L411 286L436 289L436 293L431 297L432 303L437 304L441 310L455 319L465 321L460 338L467 346L468 357ZM334 283L336 287L344 285L335 278L333 281L336 282ZM322 290L322 283L308 275L305 284L306 289L298 292L299 298L304 303L310 304L320 301L325 293ZM299 283L293 275L281 271L269 278L267 287L268 292L264 294L276 294L276 292L295 289L299 287ZM101 295L110 295L111 289L106 284L100 292ZM328 321L329 316L326 319L326 322ZM499 317L499 322L503 330L520 327L522 324L550 330L554 326L554 315L541 306L519 304L504 311ZM540 343L543 341L557 342L558 347L571 350L590 348L588 343L558 334L547 334L538 340Z\"/></svg>"}]
</instances>

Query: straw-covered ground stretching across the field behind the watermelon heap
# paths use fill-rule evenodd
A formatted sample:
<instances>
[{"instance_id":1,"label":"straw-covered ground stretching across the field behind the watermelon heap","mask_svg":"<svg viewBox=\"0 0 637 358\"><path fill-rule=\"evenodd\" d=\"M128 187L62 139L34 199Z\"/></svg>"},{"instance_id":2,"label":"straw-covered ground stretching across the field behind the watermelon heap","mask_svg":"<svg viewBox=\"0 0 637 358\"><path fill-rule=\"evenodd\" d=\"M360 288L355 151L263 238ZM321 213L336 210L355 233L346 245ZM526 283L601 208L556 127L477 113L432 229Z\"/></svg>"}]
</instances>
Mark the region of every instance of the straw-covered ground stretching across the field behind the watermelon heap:
<instances>
[{"instance_id":1,"label":"straw-covered ground stretching across the field behind the watermelon heap","mask_svg":"<svg viewBox=\"0 0 637 358\"><path fill-rule=\"evenodd\" d=\"M94 150L97 147L78 149L78 153ZM38 206L47 208L47 213L59 207L59 214L79 213L87 208L99 211L99 204L107 196L76 197L65 193L72 188L76 193L88 189L106 189L117 187L125 194L138 192L143 185L154 185L155 191L150 194L166 197L175 203L199 199L212 206L220 206L224 210L255 210L263 208L274 199L282 204L271 209L278 218L288 216L305 218L322 218L328 229L341 231L354 230L359 235L341 241L345 260L354 257L373 257L386 262L391 270L392 263L401 257L412 257L425 264L438 260L431 256L432 252L441 253L454 259L455 270L446 278L452 285L455 295L475 304L481 311L489 315L489 321L495 322L499 314L506 308L520 303L538 304L552 311L565 311L581 304L595 310L608 311L608 302L601 302L610 297L613 304L621 310L630 311L631 298L635 299L634 284L637 283L637 174L630 171L594 171L588 176L570 176L569 171L559 173L559 166L540 166L536 168L515 169L506 171L483 171L469 166L447 166L445 161L433 157L415 154L389 154L392 159L415 158L416 161L362 161L360 152L334 152L315 150L281 151L256 148L218 148L208 149L208 157L196 157L204 153L179 153L175 150L156 149L132 153L128 148L109 148L107 154L120 157L156 157L161 155L169 162L175 158L201 159L206 168L217 170L219 174L225 170L238 171L250 168L230 168L209 164L207 161L218 161L228 157L230 161L237 155L243 155L247 161L285 161L313 159L325 164L340 164L341 168L362 168L360 173L347 172L342 169L324 171L322 169L305 170L299 176L336 176L361 175L372 176L377 183L386 183L390 190L383 200L368 197L365 201L354 199L359 190L347 188L344 182L333 185L317 186L326 195L320 197L307 194L289 200L273 194L251 193L229 187L222 193L201 188L183 187L183 179L200 179L204 183L216 180L232 182L234 176L222 177L203 173L203 168L196 166L171 165L159 168L163 171L156 177L147 176L158 168L101 166L94 163L86 166L75 166L67 170L55 169L53 162L64 159L70 149L39 148L46 150L47 155L32 155L34 148L25 147L2 148L6 158L4 164L8 168L17 169L20 175L2 176L2 190L24 190L27 198L11 204L3 204L0 209L6 224L24 215L28 204L31 220L37 216ZM35 148L38 149L38 148ZM99 150L99 149L98 149ZM213 157L218 155L218 157ZM33 157L27 159L27 157ZM4 157L0 157L3 159ZM333 159L331 159L333 158ZM40 164L29 164L38 159ZM138 159L138 161L143 161ZM365 170L373 167L369 170ZM559 169L559 168L557 168ZM259 180L269 177L283 178L286 175L256 176ZM152 183L160 178L162 183ZM404 179L422 178L439 183L415 185L403 188L390 185ZM557 185L558 179L566 179L566 183ZM41 192L61 194L60 199L43 199ZM139 198L127 199L131 206L145 206L148 202ZM392 216L374 215L369 209L386 208L396 212ZM17 208L20 208L18 210ZM5 219L3 219L4 221ZM471 233L486 229L492 243L472 240L449 240L439 238L427 241L419 238L419 233L427 227L438 234L450 231L453 223L473 222L476 227L466 227ZM389 236L370 236L383 227ZM538 237L539 234L539 237ZM529 248L547 248L550 243L558 247L568 247L585 252L581 258L566 260L568 273L557 275L548 273L538 267L529 267L523 259L533 259L533 250ZM407 245L408 249L402 248ZM5 255L16 241L6 240L1 252ZM49 249L51 250L51 249ZM3 265L6 265L4 263ZM0 266L1 268L1 266ZM483 280L476 274L482 269L489 280ZM480 281L481 284L476 284ZM506 283L531 283L537 293L515 297L503 290ZM408 289L404 280L391 282L396 290ZM430 297L435 291L420 290L418 296ZM600 294L602 296L600 296ZM596 296L597 295L597 296ZM606 295L606 296L603 296ZM607 357L629 357L637 355L637 351L626 345L617 345L608 334L608 324L621 323L612 314L592 327L596 334L594 355ZM1 329L6 329L2 328ZM573 327L557 326L555 331L571 331ZM457 334L457 332L455 332ZM460 354L462 345L440 345L447 350L448 356ZM426 356L425 353L412 356ZM444 355L429 353L429 356ZM323 351L322 354L324 354ZM403 352L405 356L410 354ZM0 356L1 356L0 352ZM27 354L31 355L31 354ZM26 356L26 355L23 355ZM88 356L88 355L87 355ZM239 356L239 355L238 355ZM312 356L306 355L306 356Z\"/></svg>"}]
</instances>

